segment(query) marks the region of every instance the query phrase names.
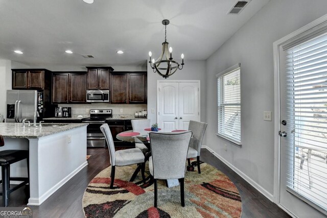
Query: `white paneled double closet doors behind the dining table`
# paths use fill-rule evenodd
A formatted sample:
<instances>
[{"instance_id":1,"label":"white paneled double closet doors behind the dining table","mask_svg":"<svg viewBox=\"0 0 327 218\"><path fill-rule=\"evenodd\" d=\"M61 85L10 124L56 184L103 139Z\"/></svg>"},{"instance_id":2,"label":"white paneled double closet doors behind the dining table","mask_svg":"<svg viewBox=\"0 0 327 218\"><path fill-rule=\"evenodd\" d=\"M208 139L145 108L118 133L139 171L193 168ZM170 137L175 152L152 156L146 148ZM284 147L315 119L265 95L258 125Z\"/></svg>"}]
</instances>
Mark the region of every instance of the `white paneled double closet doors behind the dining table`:
<instances>
[{"instance_id":1,"label":"white paneled double closet doors behind the dining table","mask_svg":"<svg viewBox=\"0 0 327 218\"><path fill-rule=\"evenodd\" d=\"M158 81L159 128L187 130L190 120L200 121L200 81Z\"/></svg>"}]
</instances>

